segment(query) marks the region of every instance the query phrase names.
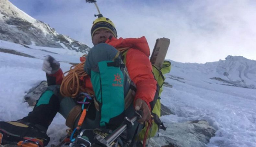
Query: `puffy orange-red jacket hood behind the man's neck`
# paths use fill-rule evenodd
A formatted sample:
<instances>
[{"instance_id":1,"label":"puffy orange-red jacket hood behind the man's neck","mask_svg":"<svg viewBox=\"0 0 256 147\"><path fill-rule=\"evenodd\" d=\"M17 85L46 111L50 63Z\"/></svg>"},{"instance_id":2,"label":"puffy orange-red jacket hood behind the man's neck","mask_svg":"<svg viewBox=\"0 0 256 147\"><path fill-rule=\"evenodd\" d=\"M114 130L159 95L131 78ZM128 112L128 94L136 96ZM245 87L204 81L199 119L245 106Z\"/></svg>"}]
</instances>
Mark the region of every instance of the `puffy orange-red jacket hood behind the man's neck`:
<instances>
[{"instance_id":1,"label":"puffy orange-red jacket hood behind the man's neck","mask_svg":"<svg viewBox=\"0 0 256 147\"><path fill-rule=\"evenodd\" d=\"M142 51L145 53L147 57L150 55L149 46L147 43L147 40L145 36L142 36L141 38L119 38L116 39L114 37L110 37L108 40L106 40L107 44L113 46L114 48L133 48L139 51Z\"/></svg>"}]
</instances>

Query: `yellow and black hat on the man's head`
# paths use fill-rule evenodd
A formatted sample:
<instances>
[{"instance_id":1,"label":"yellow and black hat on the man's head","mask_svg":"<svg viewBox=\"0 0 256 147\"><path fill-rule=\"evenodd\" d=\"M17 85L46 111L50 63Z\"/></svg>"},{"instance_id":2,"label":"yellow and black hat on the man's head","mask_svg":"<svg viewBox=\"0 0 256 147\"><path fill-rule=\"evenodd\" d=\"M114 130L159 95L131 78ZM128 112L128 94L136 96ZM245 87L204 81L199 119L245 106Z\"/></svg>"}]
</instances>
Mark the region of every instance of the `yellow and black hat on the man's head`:
<instances>
[{"instance_id":1,"label":"yellow and black hat on the man's head","mask_svg":"<svg viewBox=\"0 0 256 147\"><path fill-rule=\"evenodd\" d=\"M101 28L105 28L111 31L114 37L117 38L117 31L114 23L109 18L106 18L106 17L99 17L93 21L92 28L91 28L91 36L93 37L93 34Z\"/></svg>"}]
</instances>

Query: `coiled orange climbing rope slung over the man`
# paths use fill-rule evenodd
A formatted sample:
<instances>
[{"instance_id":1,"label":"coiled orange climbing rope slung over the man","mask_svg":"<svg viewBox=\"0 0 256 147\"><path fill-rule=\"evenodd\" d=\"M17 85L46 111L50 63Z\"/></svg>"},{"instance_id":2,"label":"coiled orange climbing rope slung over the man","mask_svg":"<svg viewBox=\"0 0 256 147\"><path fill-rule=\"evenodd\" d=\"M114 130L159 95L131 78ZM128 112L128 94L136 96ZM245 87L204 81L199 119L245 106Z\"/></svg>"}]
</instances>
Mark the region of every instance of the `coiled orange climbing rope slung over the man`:
<instances>
[{"instance_id":1,"label":"coiled orange climbing rope slung over the man","mask_svg":"<svg viewBox=\"0 0 256 147\"><path fill-rule=\"evenodd\" d=\"M127 51L129 48L118 48L117 50L121 53ZM87 55L83 55L86 57ZM63 81L60 87L60 93L65 97L75 98L80 92L86 92L89 95L94 95L94 92L85 87L83 84L84 80L81 80L81 77L87 76L87 73L84 71L85 61L72 65L69 71L63 73ZM65 75L67 74L67 75Z\"/></svg>"}]
</instances>

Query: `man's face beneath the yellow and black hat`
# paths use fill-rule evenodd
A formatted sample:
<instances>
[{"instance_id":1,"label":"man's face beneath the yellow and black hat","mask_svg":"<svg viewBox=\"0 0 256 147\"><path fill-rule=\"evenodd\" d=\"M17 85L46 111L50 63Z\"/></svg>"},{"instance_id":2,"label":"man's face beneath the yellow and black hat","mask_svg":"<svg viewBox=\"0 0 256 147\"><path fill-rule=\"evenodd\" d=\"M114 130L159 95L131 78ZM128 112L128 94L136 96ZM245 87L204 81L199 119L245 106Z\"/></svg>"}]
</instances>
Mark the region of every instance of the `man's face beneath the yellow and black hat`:
<instances>
[{"instance_id":1,"label":"man's face beneath the yellow and black hat","mask_svg":"<svg viewBox=\"0 0 256 147\"><path fill-rule=\"evenodd\" d=\"M105 29L105 28L101 28L99 30L97 30L92 37L92 43L93 45L99 44L99 43L104 43L106 42L106 40L110 37L110 36L114 36L111 31Z\"/></svg>"}]
</instances>

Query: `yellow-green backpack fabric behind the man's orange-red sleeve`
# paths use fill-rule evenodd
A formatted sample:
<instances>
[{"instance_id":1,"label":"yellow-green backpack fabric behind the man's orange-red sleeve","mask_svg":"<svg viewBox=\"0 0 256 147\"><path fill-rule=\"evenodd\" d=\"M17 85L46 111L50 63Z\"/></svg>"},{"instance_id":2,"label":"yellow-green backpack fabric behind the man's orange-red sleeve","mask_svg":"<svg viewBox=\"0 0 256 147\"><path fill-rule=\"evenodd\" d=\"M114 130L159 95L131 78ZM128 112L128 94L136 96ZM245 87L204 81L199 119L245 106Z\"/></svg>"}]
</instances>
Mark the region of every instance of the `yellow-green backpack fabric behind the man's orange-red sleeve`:
<instances>
[{"instance_id":1,"label":"yellow-green backpack fabric behind the man's orange-red sleeve","mask_svg":"<svg viewBox=\"0 0 256 147\"><path fill-rule=\"evenodd\" d=\"M166 73L169 73L170 70L171 70L171 62L169 61L164 61L163 63L163 66L162 68L159 70L157 69L156 66L154 66L152 64L152 67L153 67L153 73L154 73L154 76L157 80L157 84L160 86L160 90L159 90L159 99L157 99L157 102L152 110L152 113L155 113L157 114L157 116L160 118L160 112L161 112L161 103L160 103L160 95L161 95L161 92L163 91L163 84L164 84L164 80L165 80L165 76L164 74ZM146 130L147 130L147 123L146 123L146 126L140 131L139 135L138 135L138 140L143 140L144 139L144 136L145 136L145 133L146 133ZM157 130L158 130L158 126L155 122L153 122L152 124L152 130L151 130L151 135L150 137L154 137L157 133ZM148 133L148 136L147 138L149 138L149 133Z\"/></svg>"}]
</instances>

